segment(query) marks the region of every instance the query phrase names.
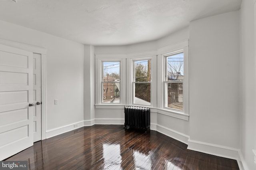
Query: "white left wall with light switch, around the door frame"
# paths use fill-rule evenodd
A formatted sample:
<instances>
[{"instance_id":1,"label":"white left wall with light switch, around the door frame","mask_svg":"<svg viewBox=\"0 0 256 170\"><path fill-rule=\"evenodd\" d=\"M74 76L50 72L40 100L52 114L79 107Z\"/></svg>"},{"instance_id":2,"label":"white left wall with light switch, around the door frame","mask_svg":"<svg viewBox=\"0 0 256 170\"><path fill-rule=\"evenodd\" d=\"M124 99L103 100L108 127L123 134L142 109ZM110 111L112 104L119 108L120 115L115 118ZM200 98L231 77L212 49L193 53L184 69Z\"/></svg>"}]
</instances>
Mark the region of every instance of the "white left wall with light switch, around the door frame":
<instances>
[{"instance_id":1,"label":"white left wall with light switch, around the door frame","mask_svg":"<svg viewBox=\"0 0 256 170\"><path fill-rule=\"evenodd\" d=\"M84 45L4 21L0 39L47 50L46 131L84 120Z\"/></svg>"}]
</instances>

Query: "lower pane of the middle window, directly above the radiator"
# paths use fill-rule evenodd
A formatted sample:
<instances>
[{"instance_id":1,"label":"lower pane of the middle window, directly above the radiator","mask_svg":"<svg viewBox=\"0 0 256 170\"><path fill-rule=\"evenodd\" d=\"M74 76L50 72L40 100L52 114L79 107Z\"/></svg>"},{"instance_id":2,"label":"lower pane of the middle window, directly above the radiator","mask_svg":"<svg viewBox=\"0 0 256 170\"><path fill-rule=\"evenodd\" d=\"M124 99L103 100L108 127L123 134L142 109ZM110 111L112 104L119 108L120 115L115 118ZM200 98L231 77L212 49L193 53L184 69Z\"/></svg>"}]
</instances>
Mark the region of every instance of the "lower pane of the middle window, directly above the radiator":
<instances>
[{"instance_id":1,"label":"lower pane of the middle window, directly above the radiator","mask_svg":"<svg viewBox=\"0 0 256 170\"><path fill-rule=\"evenodd\" d=\"M150 105L150 83L135 83L134 103Z\"/></svg>"}]
</instances>

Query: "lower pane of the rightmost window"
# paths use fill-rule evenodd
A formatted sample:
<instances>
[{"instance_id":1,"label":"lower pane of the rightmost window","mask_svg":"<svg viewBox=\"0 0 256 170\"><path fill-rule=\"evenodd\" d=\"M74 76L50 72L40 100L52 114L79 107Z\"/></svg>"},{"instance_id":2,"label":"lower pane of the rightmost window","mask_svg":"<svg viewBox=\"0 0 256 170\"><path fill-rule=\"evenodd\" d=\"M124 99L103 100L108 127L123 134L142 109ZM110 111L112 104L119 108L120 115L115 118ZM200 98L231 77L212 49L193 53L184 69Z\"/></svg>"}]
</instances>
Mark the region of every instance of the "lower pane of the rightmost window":
<instances>
[{"instance_id":1,"label":"lower pane of the rightmost window","mask_svg":"<svg viewBox=\"0 0 256 170\"><path fill-rule=\"evenodd\" d=\"M168 106L183 110L183 83L167 83Z\"/></svg>"}]
</instances>

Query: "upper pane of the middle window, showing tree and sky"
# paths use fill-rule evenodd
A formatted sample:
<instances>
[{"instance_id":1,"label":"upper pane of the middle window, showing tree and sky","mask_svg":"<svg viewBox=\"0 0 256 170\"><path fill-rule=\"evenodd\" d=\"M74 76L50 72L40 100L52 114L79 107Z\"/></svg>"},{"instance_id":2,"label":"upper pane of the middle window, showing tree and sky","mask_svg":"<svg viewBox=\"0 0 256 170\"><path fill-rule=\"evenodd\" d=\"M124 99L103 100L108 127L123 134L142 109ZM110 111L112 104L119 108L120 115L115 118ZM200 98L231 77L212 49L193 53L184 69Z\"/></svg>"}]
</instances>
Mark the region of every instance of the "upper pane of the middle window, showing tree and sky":
<instances>
[{"instance_id":1,"label":"upper pane of the middle window, showing tree and sky","mask_svg":"<svg viewBox=\"0 0 256 170\"><path fill-rule=\"evenodd\" d=\"M151 81L151 60L140 60L135 62L135 81Z\"/></svg>"}]
</instances>

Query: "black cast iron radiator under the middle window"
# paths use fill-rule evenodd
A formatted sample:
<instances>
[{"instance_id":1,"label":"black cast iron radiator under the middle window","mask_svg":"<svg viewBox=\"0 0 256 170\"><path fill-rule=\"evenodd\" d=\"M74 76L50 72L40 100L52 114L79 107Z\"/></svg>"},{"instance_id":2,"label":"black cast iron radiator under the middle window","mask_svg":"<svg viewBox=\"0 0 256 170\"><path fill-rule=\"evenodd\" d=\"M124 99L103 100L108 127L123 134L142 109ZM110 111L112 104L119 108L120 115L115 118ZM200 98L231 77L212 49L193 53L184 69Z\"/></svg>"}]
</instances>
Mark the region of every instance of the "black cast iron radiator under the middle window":
<instances>
[{"instance_id":1,"label":"black cast iron radiator under the middle window","mask_svg":"<svg viewBox=\"0 0 256 170\"><path fill-rule=\"evenodd\" d=\"M146 107L124 107L124 129L150 130L150 109Z\"/></svg>"}]
</instances>

